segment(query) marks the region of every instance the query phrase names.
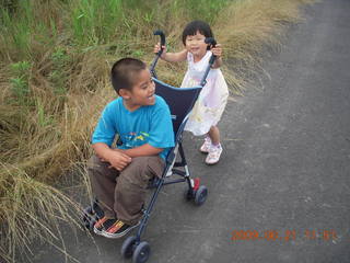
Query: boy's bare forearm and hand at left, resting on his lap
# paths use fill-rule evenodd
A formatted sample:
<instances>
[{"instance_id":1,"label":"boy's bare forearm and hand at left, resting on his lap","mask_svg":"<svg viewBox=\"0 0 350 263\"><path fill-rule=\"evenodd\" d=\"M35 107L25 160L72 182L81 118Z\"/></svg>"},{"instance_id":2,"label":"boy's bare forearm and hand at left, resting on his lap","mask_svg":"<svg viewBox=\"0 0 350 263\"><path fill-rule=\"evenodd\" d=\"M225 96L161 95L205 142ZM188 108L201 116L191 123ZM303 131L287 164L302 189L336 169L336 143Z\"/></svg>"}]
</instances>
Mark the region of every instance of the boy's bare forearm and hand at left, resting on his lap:
<instances>
[{"instance_id":1,"label":"boy's bare forearm and hand at left, resting on his lap","mask_svg":"<svg viewBox=\"0 0 350 263\"><path fill-rule=\"evenodd\" d=\"M98 158L110 163L109 168L113 167L118 171L121 171L131 162L131 158L127 153L121 151L115 151L104 142L93 144L92 148L94 149Z\"/></svg>"}]
</instances>

